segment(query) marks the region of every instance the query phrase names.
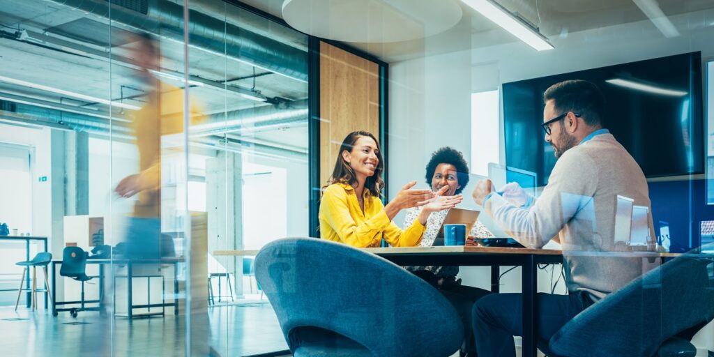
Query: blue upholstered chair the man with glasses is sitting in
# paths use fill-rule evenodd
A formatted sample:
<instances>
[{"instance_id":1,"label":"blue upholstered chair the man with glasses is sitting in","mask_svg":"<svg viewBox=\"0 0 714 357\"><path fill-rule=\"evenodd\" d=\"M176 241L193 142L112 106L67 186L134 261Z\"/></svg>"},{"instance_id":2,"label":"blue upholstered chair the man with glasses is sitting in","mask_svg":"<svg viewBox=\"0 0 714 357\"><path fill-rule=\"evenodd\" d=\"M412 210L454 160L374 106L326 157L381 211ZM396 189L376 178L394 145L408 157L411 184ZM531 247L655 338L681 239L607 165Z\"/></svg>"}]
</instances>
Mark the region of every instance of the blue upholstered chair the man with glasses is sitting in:
<instances>
[{"instance_id":1,"label":"blue upholstered chair the man with glasses is sitting in","mask_svg":"<svg viewBox=\"0 0 714 357\"><path fill-rule=\"evenodd\" d=\"M689 342L714 318L710 259L680 256L575 316L550 338L548 356L693 357Z\"/></svg>"}]
</instances>

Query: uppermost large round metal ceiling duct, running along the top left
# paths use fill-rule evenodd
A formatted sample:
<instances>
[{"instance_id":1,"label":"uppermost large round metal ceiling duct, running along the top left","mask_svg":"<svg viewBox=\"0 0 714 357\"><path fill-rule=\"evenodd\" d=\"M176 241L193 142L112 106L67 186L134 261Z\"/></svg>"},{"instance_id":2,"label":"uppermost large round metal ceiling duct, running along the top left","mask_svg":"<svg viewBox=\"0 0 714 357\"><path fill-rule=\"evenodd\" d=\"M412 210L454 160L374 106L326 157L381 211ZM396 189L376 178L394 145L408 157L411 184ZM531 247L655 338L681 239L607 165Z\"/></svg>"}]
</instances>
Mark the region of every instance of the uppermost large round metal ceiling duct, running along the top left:
<instances>
[{"instance_id":1,"label":"uppermost large round metal ceiling duct, running along the top left","mask_svg":"<svg viewBox=\"0 0 714 357\"><path fill-rule=\"evenodd\" d=\"M56 4L119 22L125 26L148 31L176 41L183 41L183 6L169 1L149 1L147 14L124 6L94 0L49 0ZM307 53L268 37L241 29L220 19L189 10L189 46L211 51L243 61L252 66L288 76L298 81L308 80Z\"/></svg>"}]
</instances>

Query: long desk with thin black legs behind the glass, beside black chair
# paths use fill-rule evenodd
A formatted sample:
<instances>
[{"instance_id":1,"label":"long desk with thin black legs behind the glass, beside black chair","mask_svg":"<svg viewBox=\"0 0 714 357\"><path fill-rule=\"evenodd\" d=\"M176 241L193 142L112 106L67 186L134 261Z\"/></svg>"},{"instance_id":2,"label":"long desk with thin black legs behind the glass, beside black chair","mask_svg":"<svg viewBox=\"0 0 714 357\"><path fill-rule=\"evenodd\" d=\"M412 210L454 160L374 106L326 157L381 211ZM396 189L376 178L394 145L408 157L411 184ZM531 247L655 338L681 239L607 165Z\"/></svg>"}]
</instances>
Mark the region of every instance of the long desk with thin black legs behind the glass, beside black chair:
<instances>
[{"instance_id":1,"label":"long desk with thin black legs behind the glass, beside black chair","mask_svg":"<svg viewBox=\"0 0 714 357\"><path fill-rule=\"evenodd\" d=\"M81 301L56 301L56 266L58 264L61 264L61 260L53 260L51 263L51 276L52 276L52 316L57 316L57 313L59 311L70 311L71 308L57 308L58 305L70 305L70 304L78 304L81 303ZM104 295L104 266L107 264L117 264L117 265L126 265L126 308L127 308L127 315L129 319L134 318L134 316L137 316L133 313L134 308L154 308L154 307L161 307L164 308L166 306L174 306L174 314L178 315L178 298L176 298L176 295L178 294L178 263L183 263L183 258L161 258L161 259L126 259L126 258L119 258L119 259L87 259L86 260L87 264L99 264L99 296L100 300L90 300L90 301L84 301L84 303L101 303L101 296ZM174 302L173 303L151 303L151 304L146 304L146 305L134 305L131 301L131 292L132 292L132 284L131 284L131 278L135 277L132 275L132 269L133 266L137 264L173 264L174 265ZM137 276L138 277L138 276ZM116 294L116 291L114 291ZM142 313L141 316L156 316L156 315L164 315L164 312L162 311L161 313Z\"/></svg>"}]
</instances>

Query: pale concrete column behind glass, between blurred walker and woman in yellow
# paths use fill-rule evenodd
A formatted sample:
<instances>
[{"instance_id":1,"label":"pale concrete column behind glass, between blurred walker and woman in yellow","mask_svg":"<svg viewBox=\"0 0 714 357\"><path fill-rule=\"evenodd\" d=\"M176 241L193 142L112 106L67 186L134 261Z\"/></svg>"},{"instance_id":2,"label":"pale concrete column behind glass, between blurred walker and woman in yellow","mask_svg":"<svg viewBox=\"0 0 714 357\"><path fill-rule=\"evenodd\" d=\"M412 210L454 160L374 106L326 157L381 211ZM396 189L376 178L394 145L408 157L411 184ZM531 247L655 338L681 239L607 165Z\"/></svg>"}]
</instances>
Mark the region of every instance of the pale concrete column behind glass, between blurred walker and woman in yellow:
<instances>
[{"instance_id":1,"label":"pale concrete column behind glass, between blurred walker and woman in yellow","mask_svg":"<svg viewBox=\"0 0 714 357\"><path fill-rule=\"evenodd\" d=\"M242 189L241 154L218 151L215 159L206 161L208 253L243 248ZM220 256L216 260L233 274L234 296L242 297L243 258ZM218 291L213 293L218 294ZM226 295L226 291L221 293Z\"/></svg>"}]
</instances>

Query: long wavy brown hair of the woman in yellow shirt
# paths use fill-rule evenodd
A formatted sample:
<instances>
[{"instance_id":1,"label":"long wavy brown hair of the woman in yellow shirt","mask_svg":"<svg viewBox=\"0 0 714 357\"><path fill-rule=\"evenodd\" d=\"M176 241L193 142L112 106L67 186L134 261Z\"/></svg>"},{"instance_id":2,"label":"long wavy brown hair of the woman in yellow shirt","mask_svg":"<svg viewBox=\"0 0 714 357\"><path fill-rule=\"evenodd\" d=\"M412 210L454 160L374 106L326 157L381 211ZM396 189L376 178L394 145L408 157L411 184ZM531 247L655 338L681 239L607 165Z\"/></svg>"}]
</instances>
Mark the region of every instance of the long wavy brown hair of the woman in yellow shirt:
<instances>
[{"instance_id":1,"label":"long wavy brown hair of the woman in yellow shirt","mask_svg":"<svg viewBox=\"0 0 714 357\"><path fill-rule=\"evenodd\" d=\"M382 160L382 148L379 146L379 141L371 134L368 133L367 131L353 131L350 134L346 136L346 138L342 141L342 145L340 146L340 151L337 155L337 162L335 163L335 169L332 171L332 176L327 181L327 185L323 186L323 189L326 188L327 186L330 186L333 183L346 183L350 186L356 186L357 185L357 177L355 175L354 170L350 167L350 164L345 161L342 157L342 153L347 151L347 152L352 152L352 149L354 148L355 143L357 142L358 139L360 139L363 136L367 136L368 138L371 138L374 140L374 142L377 144L377 159L379 160L377 164L377 168L374 171L374 175L369 176L367 180L364 183L364 188L367 189L369 194L371 194L374 197L379 197L380 193L382 191L382 188L384 187L384 181L382 181L382 171L384 170L384 162Z\"/></svg>"}]
</instances>

